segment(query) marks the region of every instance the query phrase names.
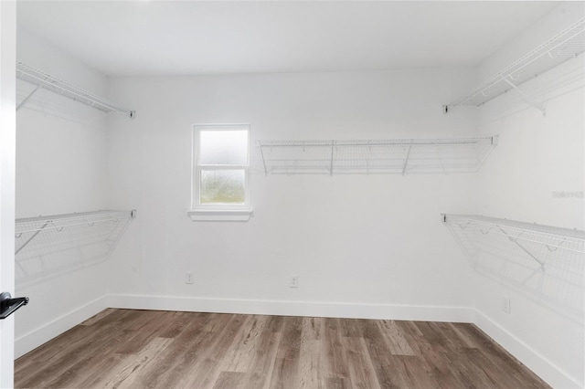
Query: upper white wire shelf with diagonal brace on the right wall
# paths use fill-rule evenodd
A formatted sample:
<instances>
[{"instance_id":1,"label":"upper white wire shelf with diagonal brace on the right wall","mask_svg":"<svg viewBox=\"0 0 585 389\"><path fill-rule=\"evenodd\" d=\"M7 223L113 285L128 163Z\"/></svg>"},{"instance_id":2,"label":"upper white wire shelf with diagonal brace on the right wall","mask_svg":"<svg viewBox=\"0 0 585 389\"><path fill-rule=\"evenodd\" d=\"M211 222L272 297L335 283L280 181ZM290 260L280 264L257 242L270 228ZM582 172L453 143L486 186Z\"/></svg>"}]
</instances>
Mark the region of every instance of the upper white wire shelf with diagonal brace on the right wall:
<instances>
[{"instance_id":1,"label":"upper white wire shelf with diagonal brace on the right wall","mask_svg":"<svg viewBox=\"0 0 585 389\"><path fill-rule=\"evenodd\" d=\"M542 106L517 87L570 58L579 56L583 51L585 51L585 18L568 26L524 57L518 58L466 95L443 106L443 110L447 113L457 106L479 107L510 89L517 89L528 103L545 112Z\"/></svg>"}]
</instances>

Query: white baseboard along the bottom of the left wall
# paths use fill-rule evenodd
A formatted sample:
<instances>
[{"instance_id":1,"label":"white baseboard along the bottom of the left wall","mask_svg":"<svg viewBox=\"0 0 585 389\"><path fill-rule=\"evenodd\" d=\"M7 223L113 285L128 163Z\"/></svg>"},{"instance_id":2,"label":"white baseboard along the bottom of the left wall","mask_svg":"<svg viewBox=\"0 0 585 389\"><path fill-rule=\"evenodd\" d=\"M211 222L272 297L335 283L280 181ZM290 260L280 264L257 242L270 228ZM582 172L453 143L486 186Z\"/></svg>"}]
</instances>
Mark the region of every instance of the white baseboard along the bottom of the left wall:
<instances>
[{"instance_id":1,"label":"white baseboard along the bottom of the left wall","mask_svg":"<svg viewBox=\"0 0 585 389\"><path fill-rule=\"evenodd\" d=\"M107 299L101 297L90 301L75 310L70 310L69 313L59 316L57 319L49 321L47 324L44 324L33 331L20 335L15 339L15 358L36 349L41 344L50 341L65 331L68 331L80 324L80 322L90 319L91 316L101 312L101 310L105 310L106 308L108 308Z\"/></svg>"}]
</instances>

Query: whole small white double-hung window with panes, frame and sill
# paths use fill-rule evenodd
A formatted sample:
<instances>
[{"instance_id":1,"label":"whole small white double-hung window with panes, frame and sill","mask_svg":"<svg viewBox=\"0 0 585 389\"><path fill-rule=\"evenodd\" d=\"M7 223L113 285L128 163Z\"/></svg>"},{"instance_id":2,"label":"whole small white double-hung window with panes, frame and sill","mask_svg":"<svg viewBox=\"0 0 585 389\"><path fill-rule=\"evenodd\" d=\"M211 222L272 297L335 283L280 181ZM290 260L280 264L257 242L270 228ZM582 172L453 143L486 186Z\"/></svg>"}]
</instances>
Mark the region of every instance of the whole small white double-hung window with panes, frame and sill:
<instances>
[{"instance_id":1,"label":"whole small white double-hung window with panes, frame and sill","mask_svg":"<svg viewBox=\"0 0 585 389\"><path fill-rule=\"evenodd\" d=\"M193 126L193 220L250 218L250 126Z\"/></svg>"}]
</instances>

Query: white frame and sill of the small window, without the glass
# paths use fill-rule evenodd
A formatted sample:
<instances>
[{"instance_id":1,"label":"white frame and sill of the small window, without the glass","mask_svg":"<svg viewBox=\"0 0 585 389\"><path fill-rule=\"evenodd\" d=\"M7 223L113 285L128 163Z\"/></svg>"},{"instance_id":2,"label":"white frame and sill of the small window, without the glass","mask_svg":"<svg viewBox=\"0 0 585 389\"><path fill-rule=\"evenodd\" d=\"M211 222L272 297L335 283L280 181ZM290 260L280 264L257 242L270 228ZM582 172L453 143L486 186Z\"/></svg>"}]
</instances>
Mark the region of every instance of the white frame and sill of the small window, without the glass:
<instances>
[{"instance_id":1,"label":"white frame and sill of the small window, without the glass","mask_svg":"<svg viewBox=\"0 0 585 389\"><path fill-rule=\"evenodd\" d=\"M248 150L245 165L205 165L199 163L201 131L248 131ZM187 214L193 221L248 221L252 214L250 206L250 124L194 124L192 129L191 157L191 209ZM244 171L244 204L201 204L201 171Z\"/></svg>"}]
</instances>

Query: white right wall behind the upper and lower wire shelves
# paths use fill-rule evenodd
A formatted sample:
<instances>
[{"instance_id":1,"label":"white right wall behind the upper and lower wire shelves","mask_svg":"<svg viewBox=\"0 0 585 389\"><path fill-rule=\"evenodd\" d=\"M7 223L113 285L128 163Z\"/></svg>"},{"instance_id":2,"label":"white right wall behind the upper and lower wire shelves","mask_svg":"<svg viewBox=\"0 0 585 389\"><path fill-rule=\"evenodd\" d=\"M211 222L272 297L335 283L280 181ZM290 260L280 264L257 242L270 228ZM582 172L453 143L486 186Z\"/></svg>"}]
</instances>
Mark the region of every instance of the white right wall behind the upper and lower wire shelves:
<instances>
[{"instance_id":1,"label":"white right wall behind the upper and lower wire shelves","mask_svg":"<svg viewBox=\"0 0 585 389\"><path fill-rule=\"evenodd\" d=\"M497 66L502 67L502 58L514 52L525 54L582 16L582 3L559 6L486 60L480 72L495 73ZM535 42L537 37L540 42ZM585 200L554 196L554 192L585 189L584 69L581 55L522 86L544 104L546 117L515 91L480 110L480 133L499 133L500 144L479 174L479 214L584 229ZM582 261L582 256L574 260ZM578 268L580 275L570 274ZM569 274L562 277L581 278L582 294L582 264L573 263L565 272ZM484 331L555 387L584 385L583 307L577 314L568 309L580 304L582 296L572 300L566 293L565 300L550 304L547 291L513 288L505 279L476 275L473 285L475 308L480 312L477 322ZM503 296L511 298L510 314L502 310Z\"/></svg>"}]
</instances>

